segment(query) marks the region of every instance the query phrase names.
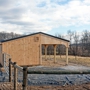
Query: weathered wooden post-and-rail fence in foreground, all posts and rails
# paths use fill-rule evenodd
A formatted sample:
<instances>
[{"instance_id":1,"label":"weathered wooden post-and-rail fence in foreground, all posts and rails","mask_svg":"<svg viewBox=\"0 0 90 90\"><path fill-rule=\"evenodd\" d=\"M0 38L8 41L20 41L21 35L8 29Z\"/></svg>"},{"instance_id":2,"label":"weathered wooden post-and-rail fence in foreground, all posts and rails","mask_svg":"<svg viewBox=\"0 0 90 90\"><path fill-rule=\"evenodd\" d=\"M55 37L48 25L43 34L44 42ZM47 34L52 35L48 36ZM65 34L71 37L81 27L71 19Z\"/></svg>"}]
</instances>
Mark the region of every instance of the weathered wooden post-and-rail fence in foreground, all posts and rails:
<instances>
[{"instance_id":1,"label":"weathered wooden post-and-rail fence in foreground, all posts and rails","mask_svg":"<svg viewBox=\"0 0 90 90\"><path fill-rule=\"evenodd\" d=\"M12 66L14 67L14 90L17 90L17 69L23 72L23 90L27 90L27 76L28 74L90 74L90 70L71 71L71 70L31 70L27 67L20 67L16 62L9 59L9 82L12 82Z\"/></svg>"}]
</instances>

